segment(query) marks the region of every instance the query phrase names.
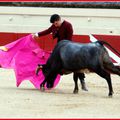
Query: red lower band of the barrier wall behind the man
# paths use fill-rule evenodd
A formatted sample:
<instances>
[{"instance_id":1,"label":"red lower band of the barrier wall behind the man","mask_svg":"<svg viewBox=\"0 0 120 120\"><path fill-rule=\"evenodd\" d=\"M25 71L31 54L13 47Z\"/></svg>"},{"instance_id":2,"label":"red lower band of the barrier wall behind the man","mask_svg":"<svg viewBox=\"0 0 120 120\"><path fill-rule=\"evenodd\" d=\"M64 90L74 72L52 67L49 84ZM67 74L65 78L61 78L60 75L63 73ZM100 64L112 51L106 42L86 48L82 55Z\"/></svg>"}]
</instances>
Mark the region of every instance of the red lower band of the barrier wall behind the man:
<instances>
[{"instance_id":1,"label":"red lower band of the barrier wall behind the man","mask_svg":"<svg viewBox=\"0 0 120 120\"><path fill-rule=\"evenodd\" d=\"M15 41L23 36L28 35L29 33L4 33L0 32L0 45L8 44L12 41ZM114 47L117 51L120 52L120 36L112 36L112 35L94 35L98 40L107 41L112 47ZM73 41L88 43L90 42L88 35L74 35ZM46 35L40 37L37 40L40 47L45 50L52 50L56 44L56 39L53 40L51 35Z\"/></svg>"}]
</instances>

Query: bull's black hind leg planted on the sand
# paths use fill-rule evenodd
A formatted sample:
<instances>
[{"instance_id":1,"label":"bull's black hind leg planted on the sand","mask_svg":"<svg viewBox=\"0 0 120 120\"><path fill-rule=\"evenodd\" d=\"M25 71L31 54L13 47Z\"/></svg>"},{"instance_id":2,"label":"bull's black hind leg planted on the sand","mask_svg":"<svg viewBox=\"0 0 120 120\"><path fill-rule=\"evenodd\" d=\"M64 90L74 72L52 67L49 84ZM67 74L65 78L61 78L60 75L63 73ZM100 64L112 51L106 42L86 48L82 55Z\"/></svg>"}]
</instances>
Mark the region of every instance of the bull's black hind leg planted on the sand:
<instances>
[{"instance_id":1,"label":"bull's black hind leg planted on the sand","mask_svg":"<svg viewBox=\"0 0 120 120\"><path fill-rule=\"evenodd\" d=\"M100 69L96 71L96 73L98 75L100 75L101 77L105 78L107 83L108 83L108 87L109 87L109 96L112 96L113 94L113 88L112 88L112 82L111 82L111 77L110 74L107 73L104 69Z\"/></svg>"}]
</instances>

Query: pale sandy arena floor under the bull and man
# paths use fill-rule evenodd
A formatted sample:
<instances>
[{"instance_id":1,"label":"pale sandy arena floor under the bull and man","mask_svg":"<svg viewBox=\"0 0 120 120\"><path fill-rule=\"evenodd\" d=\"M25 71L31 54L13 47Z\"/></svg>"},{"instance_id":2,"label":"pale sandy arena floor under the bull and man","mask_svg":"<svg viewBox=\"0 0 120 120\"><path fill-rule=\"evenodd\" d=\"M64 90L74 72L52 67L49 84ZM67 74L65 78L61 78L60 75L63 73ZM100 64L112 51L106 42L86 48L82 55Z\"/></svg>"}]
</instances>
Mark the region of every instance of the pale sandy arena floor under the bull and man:
<instances>
[{"instance_id":1,"label":"pale sandy arena floor under the bull and man","mask_svg":"<svg viewBox=\"0 0 120 120\"><path fill-rule=\"evenodd\" d=\"M120 118L120 77L112 75L113 98L106 81L96 74L86 75L88 92L73 94L72 74L59 85L41 92L29 81L16 87L12 70L0 69L0 118Z\"/></svg>"}]
</instances>

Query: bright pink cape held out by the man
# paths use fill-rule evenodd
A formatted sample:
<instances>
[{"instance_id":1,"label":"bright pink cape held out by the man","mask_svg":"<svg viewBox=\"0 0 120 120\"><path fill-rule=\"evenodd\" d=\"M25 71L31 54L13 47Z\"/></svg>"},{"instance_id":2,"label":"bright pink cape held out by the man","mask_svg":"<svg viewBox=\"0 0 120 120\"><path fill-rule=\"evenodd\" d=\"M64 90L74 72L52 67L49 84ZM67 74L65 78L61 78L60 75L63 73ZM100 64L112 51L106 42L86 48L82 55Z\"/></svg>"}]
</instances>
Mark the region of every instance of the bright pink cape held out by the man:
<instances>
[{"instance_id":1,"label":"bright pink cape held out by the man","mask_svg":"<svg viewBox=\"0 0 120 120\"><path fill-rule=\"evenodd\" d=\"M2 68L14 69L17 87L22 81L29 80L39 89L44 75L40 71L37 76L35 69L38 64L46 63L50 52L40 49L31 34L5 45L5 47L8 48L7 52L0 50L0 65ZM57 76L54 87L59 80L60 75Z\"/></svg>"}]
</instances>

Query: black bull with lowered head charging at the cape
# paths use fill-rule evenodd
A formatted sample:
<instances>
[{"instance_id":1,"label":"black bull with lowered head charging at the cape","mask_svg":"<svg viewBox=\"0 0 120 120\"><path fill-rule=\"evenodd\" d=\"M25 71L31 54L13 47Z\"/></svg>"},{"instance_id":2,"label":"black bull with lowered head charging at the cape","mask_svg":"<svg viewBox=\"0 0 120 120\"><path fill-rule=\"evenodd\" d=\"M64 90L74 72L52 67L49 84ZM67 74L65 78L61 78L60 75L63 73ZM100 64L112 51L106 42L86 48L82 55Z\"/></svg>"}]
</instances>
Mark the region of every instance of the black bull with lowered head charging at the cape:
<instances>
[{"instance_id":1,"label":"black bull with lowered head charging at the cape","mask_svg":"<svg viewBox=\"0 0 120 120\"><path fill-rule=\"evenodd\" d=\"M83 79L81 81L84 83L84 72L89 70L106 79L109 87L109 96L112 96L113 88L110 73L120 76L120 68L114 66L103 44L109 45L104 41L88 44L75 43L69 40L60 41L55 46L47 63L42 65L45 80L40 87L43 89L47 82L47 87L52 88L58 74L63 75L73 72L75 82L74 93L76 93L78 92L78 77L82 75ZM37 68L37 73L40 68L41 66Z\"/></svg>"}]
</instances>

